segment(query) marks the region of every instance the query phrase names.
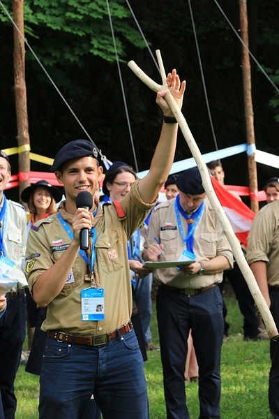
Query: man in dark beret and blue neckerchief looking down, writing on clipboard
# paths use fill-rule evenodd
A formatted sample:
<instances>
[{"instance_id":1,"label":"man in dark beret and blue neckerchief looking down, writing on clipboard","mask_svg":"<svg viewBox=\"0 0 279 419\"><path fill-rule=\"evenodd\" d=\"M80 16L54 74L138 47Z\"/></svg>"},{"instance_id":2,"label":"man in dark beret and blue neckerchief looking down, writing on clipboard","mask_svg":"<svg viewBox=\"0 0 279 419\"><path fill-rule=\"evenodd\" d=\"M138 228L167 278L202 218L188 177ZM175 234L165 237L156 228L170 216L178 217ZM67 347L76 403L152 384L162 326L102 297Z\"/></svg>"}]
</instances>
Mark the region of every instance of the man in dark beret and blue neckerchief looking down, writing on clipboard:
<instances>
[{"instance_id":1,"label":"man in dark beret and blue neckerchief looking down, writing on clipboard","mask_svg":"<svg viewBox=\"0 0 279 419\"><path fill-rule=\"evenodd\" d=\"M199 365L201 418L220 418L223 300L217 286L233 264L232 250L197 168L176 179L179 195L158 205L149 220L143 258L177 261L154 271L160 283L157 318L168 419L189 418L184 383L188 333ZM155 240L156 239L156 240ZM181 261L189 265L179 265Z\"/></svg>"}]
</instances>

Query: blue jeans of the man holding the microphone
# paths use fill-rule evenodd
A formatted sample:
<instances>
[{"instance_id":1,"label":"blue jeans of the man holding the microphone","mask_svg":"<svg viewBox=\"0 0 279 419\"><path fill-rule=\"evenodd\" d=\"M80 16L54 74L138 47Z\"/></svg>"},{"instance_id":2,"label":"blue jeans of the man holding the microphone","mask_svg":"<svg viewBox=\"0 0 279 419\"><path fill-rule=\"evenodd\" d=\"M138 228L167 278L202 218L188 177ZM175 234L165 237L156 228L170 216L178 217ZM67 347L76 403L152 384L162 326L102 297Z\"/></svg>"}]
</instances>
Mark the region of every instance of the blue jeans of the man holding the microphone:
<instances>
[{"instance_id":1,"label":"blue jeans of the man holding the microphone","mask_svg":"<svg viewBox=\"0 0 279 419\"><path fill-rule=\"evenodd\" d=\"M91 395L103 419L147 419L144 362L134 330L98 347L47 338L40 419L83 419Z\"/></svg>"}]
</instances>

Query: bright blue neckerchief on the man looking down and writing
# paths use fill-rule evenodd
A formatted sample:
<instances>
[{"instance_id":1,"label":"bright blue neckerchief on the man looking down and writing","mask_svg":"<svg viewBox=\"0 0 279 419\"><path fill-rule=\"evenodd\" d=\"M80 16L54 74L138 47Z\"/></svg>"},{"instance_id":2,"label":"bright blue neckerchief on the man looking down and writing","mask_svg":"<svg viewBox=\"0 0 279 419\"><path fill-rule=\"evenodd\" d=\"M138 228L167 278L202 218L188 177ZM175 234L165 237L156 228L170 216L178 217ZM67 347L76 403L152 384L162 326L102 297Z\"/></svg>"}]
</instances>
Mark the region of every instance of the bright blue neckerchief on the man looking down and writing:
<instances>
[{"instance_id":1,"label":"bright blue neckerchief on the man looking down and writing","mask_svg":"<svg viewBox=\"0 0 279 419\"><path fill-rule=\"evenodd\" d=\"M183 210L183 208L181 207L180 200L179 200L179 195L176 196L175 201L174 201L174 210L175 210L175 214L176 214L176 220L177 220L177 223L178 223L178 226L179 226L179 232L181 234L183 245L188 251L191 251L192 253L194 253L194 250L193 250L194 237L193 237L193 235L194 235L194 232L195 232L195 228L197 227L197 223L201 219L201 216L204 212L204 205L205 205L204 201L202 201L202 204L199 205L197 210L189 216L187 214L187 212L185 212ZM184 233L183 233L183 226L182 226L180 214L182 214L182 216L187 220L188 233L187 233L186 236L184 236Z\"/></svg>"}]
</instances>

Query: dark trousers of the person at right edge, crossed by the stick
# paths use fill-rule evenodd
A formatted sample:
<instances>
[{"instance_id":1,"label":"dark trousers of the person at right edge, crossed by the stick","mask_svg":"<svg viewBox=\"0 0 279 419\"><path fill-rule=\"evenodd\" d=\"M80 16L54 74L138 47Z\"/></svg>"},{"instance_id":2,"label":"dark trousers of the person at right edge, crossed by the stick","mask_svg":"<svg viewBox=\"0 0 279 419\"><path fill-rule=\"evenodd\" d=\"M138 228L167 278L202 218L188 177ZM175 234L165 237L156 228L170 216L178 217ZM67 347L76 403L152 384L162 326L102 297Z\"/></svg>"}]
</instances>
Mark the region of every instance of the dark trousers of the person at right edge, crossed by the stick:
<instances>
[{"instance_id":1,"label":"dark trousers of the person at right edge, crossed by the stick","mask_svg":"<svg viewBox=\"0 0 279 419\"><path fill-rule=\"evenodd\" d=\"M279 287L269 288L271 314L279 329ZM279 419L279 340L270 343L271 369L269 372L269 408L274 419Z\"/></svg>"}]
</instances>

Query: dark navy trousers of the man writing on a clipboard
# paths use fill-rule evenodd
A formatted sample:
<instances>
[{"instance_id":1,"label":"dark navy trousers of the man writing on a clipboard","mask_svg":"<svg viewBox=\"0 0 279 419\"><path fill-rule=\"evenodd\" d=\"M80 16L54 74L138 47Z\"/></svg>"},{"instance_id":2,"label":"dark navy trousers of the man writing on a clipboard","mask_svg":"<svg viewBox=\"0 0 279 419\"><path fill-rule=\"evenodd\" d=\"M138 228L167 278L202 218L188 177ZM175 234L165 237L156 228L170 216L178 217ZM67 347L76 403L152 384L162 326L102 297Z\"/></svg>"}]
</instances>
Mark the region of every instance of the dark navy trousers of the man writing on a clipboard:
<instances>
[{"instance_id":1,"label":"dark navy trousers of the man writing on a clipboard","mask_svg":"<svg viewBox=\"0 0 279 419\"><path fill-rule=\"evenodd\" d=\"M199 365L199 418L220 418L220 354L224 319L218 286L193 296L159 286L157 318L167 418L189 418L184 370L190 329Z\"/></svg>"}]
</instances>

